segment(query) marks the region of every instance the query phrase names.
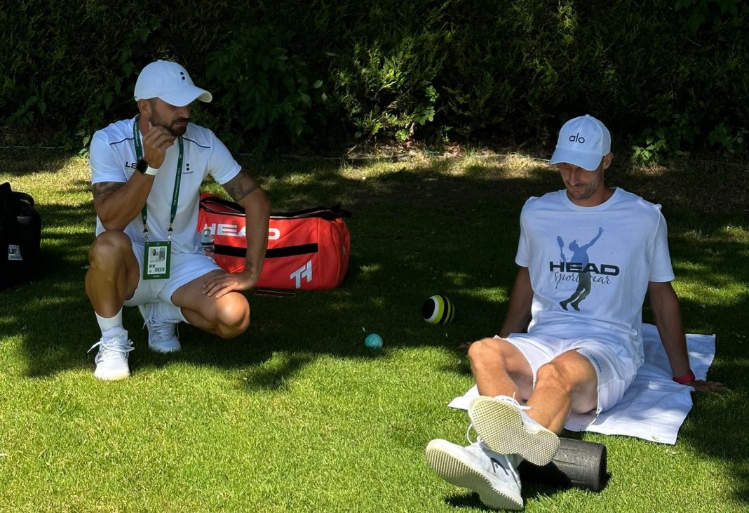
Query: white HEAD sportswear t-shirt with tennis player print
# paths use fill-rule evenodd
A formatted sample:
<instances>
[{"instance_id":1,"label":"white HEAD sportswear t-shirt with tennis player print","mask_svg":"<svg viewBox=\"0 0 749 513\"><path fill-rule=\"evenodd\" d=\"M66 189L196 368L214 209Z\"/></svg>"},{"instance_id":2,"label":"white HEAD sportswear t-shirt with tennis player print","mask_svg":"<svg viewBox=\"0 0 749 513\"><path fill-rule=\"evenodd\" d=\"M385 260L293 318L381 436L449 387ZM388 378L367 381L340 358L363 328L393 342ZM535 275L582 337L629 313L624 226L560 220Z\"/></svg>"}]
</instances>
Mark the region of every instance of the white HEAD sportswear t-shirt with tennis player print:
<instances>
[{"instance_id":1,"label":"white HEAD sportswear t-shirt with tennis player print","mask_svg":"<svg viewBox=\"0 0 749 513\"><path fill-rule=\"evenodd\" d=\"M528 333L630 341L643 360L649 281L673 280L661 205L616 188L602 205L575 205L566 190L527 200L515 262L533 288Z\"/></svg>"}]
</instances>

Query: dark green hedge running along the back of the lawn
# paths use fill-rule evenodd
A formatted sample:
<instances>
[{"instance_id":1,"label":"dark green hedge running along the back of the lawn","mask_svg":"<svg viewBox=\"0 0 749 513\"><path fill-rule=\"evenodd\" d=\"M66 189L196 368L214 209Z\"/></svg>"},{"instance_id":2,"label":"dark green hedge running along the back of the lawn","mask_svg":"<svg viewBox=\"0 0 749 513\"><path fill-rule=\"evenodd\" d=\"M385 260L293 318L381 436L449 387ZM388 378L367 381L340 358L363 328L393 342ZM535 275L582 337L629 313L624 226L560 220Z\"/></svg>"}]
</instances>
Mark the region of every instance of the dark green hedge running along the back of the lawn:
<instances>
[{"instance_id":1,"label":"dark green hedge running along the back of the lawn","mask_svg":"<svg viewBox=\"0 0 749 513\"><path fill-rule=\"evenodd\" d=\"M748 151L738 0L4 4L6 145L85 146L133 114L142 66L172 58L214 93L195 116L235 150L548 145L565 118L591 113L644 160Z\"/></svg>"}]
</instances>

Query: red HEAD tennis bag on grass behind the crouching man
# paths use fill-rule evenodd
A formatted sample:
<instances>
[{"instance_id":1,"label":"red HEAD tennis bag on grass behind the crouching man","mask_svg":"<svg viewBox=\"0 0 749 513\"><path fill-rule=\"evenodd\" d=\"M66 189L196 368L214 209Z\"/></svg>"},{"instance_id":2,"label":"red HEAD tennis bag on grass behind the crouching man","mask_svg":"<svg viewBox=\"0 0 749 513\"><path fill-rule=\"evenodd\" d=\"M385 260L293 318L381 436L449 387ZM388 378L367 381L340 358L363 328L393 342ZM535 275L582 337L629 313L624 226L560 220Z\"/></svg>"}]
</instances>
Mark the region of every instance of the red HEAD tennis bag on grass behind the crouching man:
<instances>
[{"instance_id":1,"label":"red HEAD tennis bag on grass behind the crouching man","mask_svg":"<svg viewBox=\"0 0 749 513\"><path fill-rule=\"evenodd\" d=\"M322 290L338 287L348 270L351 236L336 205L270 214L268 248L256 287ZM198 233L213 233L214 257L227 272L244 270L247 240L241 205L210 193L200 196Z\"/></svg>"}]
</instances>

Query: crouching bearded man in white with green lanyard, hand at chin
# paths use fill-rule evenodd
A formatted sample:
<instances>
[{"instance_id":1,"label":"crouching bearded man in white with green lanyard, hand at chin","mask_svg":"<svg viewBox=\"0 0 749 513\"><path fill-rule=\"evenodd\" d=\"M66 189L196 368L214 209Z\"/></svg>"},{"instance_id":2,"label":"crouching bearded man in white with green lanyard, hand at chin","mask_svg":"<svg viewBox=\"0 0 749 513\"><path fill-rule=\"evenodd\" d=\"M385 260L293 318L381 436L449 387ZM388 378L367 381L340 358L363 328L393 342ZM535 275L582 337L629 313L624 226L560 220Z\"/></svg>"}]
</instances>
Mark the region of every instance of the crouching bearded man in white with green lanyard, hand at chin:
<instances>
[{"instance_id":1,"label":"crouching bearded man in white with green lanyard, hand at chin","mask_svg":"<svg viewBox=\"0 0 749 513\"><path fill-rule=\"evenodd\" d=\"M137 306L148 347L181 349L176 326L187 322L222 338L249 326L241 293L258 281L268 238L270 203L213 132L189 123L190 104L209 102L176 62L143 68L135 88L139 114L98 130L91 139L91 184L97 238L88 251L85 287L102 337L94 376L121 380L133 343L122 307ZM201 250L200 186L211 175L246 212L242 273L223 272ZM91 347L91 349L94 349Z\"/></svg>"}]
</instances>

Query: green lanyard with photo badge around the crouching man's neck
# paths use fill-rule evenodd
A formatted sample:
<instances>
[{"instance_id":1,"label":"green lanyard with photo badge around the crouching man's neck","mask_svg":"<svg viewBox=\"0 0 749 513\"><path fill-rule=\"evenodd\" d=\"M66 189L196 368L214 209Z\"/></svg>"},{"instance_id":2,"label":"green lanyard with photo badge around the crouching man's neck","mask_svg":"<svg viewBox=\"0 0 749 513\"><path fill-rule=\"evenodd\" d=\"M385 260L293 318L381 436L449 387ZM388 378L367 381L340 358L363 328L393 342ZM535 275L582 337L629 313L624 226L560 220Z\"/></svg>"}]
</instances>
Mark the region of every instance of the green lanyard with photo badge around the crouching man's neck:
<instances>
[{"instance_id":1,"label":"green lanyard with photo badge around the crouching man's neck","mask_svg":"<svg viewBox=\"0 0 749 513\"><path fill-rule=\"evenodd\" d=\"M143 148L140 141L140 130L138 127L139 120L140 114L136 115L136 120L133 122L133 143L136 146L137 160L143 158ZM169 261L171 260L172 254L172 225L175 222L175 217L177 217L177 203L180 197L180 184L182 182L182 160L184 157L184 144L181 136L178 137L178 142L180 146L180 154L177 160L175 190L172 193L172 209L169 214L169 229L167 229L168 240L163 242L148 241L148 226L146 225L146 220L148 220L148 204L143 205L141 211L141 217L143 218L143 238L145 239L145 258L143 259L143 278L145 280L169 278Z\"/></svg>"}]
</instances>

